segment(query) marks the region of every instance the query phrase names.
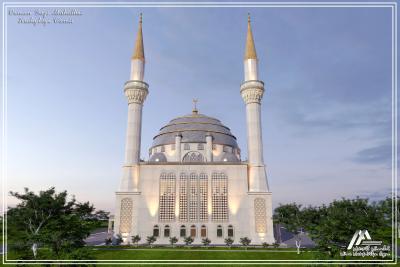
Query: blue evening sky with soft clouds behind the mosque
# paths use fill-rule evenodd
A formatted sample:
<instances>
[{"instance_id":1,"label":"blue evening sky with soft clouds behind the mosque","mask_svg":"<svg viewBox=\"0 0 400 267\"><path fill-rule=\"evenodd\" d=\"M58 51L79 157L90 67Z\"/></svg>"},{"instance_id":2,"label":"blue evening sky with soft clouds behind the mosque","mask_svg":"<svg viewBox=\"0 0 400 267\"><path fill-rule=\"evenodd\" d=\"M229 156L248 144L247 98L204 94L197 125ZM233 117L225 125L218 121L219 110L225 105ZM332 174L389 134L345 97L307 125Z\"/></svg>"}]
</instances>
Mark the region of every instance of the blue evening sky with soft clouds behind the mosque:
<instances>
[{"instance_id":1,"label":"blue evening sky with soft clouds behind the mosque","mask_svg":"<svg viewBox=\"0 0 400 267\"><path fill-rule=\"evenodd\" d=\"M78 10L82 16L63 25L7 16L4 192L55 186L114 210L127 120L123 86L140 12L150 85L142 158L158 130L190 113L197 98L200 113L231 129L245 159L239 90L250 12L266 89L262 130L274 206L389 195L390 8Z\"/></svg>"}]
</instances>

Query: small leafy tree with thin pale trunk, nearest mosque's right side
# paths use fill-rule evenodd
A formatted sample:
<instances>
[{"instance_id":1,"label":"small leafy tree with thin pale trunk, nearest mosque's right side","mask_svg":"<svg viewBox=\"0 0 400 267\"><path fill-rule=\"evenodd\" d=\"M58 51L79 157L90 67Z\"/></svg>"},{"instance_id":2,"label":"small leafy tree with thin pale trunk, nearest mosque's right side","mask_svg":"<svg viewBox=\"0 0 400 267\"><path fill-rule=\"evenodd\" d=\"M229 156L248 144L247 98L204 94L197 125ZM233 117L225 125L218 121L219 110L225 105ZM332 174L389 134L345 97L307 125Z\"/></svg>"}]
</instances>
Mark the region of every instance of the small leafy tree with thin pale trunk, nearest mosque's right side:
<instances>
[{"instance_id":1,"label":"small leafy tree with thin pale trunk, nearest mosque's right side","mask_svg":"<svg viewBox=\"0 0 400 267\"><path fill-rule=\"evenodd\" d=\"M300 254L301 236L303 234L302 225L304 224L301 205L296 203L281 205L275 209L274 221L282 224L289 232L295 234L297 254Z\"/></svg>"}]
</instances>

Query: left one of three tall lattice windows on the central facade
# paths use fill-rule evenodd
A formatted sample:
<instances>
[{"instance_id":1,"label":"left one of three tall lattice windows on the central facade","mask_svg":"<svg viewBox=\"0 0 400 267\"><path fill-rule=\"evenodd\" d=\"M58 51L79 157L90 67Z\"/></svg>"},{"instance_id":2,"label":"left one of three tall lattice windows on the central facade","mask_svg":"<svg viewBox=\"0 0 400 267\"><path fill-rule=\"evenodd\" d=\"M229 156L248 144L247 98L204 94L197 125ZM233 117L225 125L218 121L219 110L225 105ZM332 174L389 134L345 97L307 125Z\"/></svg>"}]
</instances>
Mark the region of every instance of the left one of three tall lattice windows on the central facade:
<instances>
[{"instance_id":1,"label":"left one of three tall lattice windows on the central facade","mask_svg":"<svg viewBox=\"0 0 400 267\"><path fill-rule=\"evenodd\" d=\"M175 219L175 174L161 173L159 219L170 222Z\"/></svg>"}]
</instances>

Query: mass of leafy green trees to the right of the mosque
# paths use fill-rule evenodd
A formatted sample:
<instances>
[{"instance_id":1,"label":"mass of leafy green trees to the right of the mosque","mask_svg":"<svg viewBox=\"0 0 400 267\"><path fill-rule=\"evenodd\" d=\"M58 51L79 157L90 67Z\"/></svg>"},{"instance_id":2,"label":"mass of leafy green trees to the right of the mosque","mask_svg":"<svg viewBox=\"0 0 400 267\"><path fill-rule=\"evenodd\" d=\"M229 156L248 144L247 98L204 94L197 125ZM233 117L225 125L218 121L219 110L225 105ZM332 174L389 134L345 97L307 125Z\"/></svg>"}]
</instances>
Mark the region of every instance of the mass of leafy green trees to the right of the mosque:
<instances>
[{"instance_id":1,"label":"mass of leafy green trees to the right of the mosque","mask_svg":"<svg viewBox=\"0 0 400 267\"><path fill-rule=\"evenodd\" d=\"M305 229L320 251L335 257L347 247L358 230L366 229L374 240L391 244L392 202L391 198L369 202L357 197L334 200L320 207L301 208L301 205L292 203L276 208L274 221L283 224L296 236Z\"/></svg>"}]
</instances>

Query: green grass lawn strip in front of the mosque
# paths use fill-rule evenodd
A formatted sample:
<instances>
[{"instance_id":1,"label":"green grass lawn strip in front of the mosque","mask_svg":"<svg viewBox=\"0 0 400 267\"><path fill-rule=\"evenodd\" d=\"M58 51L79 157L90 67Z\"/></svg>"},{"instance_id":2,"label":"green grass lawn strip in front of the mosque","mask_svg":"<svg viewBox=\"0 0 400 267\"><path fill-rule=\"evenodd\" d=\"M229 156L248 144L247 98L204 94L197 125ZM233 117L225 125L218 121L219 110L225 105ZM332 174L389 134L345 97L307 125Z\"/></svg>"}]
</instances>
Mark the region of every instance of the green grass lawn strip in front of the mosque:
<instances>
[{"instance_id":1,"label":"green grass lawn strip in front of the mosque","mask_svg":"<svg viewBox=\"0 0 400 267\"><path fill-rule=\"evenodd\" d=\"M243 260L328 260L326 254L321 253L316 250L304 249L301 254L297 254L295 249L282 249L282 248L249 248L245 250L243 248L226 248L226 247L91 247L93 256L96 260L110 260L110 261L118 261L118 260L140 260L140 261L150 261L151 264L140 264L137 262L134 266L249 266L251 264L231 264L234 263L235 260L243 261ZM9 255L11 256L11 255ZM9 257L9 259L12 258ZM338 258L340 259L340 258ZM186 261L190 260L227 260L227 264L221 265L222 262L215 262L212 264L202 264L198 262L197 265L189 265L189 264L181 264L177 265L176 262L171 262L170 265L165 265L165 262L160 262L160 264L152 264L157 262L157 260L177 260L178 262L181 260ZM229 262L230 261L230 262ZM123 262L121 262L123 263ZM130 262L132 265L134 262ZM143 263L143 262L142 262ZM251 263L251 262L249 262ZM262 262L259 262L262 263ZM125 262L125 264L129 264ZM315 264L311 264L305 262L307 266L317 266ZM100 266L121 266L121 264L113 264L107 263L102 264ZM253 265L256 266L256 265ZM293 266L285 263L271 265L270 263L263 263L262 265L257 266ZM343 266L343 265L319 265L319 266Z\"/></svg>"}]
</instances>

